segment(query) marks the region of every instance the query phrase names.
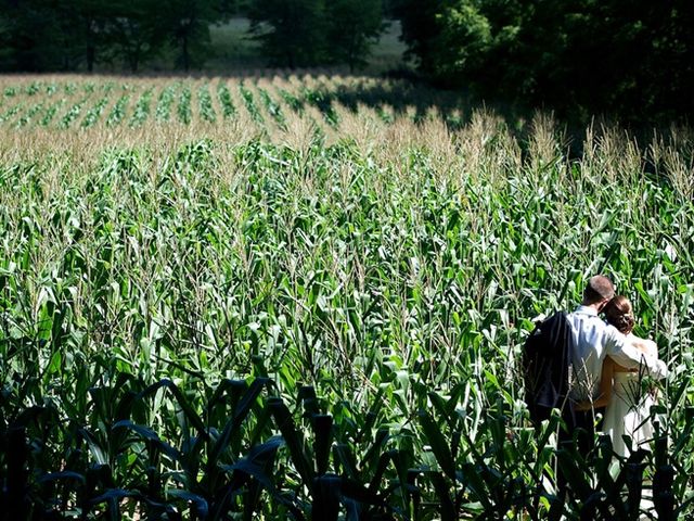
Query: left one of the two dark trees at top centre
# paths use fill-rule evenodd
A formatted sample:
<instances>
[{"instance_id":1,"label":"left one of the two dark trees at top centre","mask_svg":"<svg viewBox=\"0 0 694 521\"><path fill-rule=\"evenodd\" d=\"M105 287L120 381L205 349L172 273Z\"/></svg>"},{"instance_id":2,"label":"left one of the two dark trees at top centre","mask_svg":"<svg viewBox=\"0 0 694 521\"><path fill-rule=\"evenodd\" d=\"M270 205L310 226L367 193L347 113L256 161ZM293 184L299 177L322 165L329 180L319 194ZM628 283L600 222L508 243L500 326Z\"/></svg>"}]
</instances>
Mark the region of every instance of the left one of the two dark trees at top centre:
<instances>
[{"instance_id":1,"label":"left one of the two dark trees at top centre","mask_svg":"<svg viewBox=\"0 0 694 521\"><path fill-rule=\"evenodd\" d=\"M271 64L295 68L325 59L323 0L255 0L248 16L250 34Z\"/></svg>"}]
</instances>

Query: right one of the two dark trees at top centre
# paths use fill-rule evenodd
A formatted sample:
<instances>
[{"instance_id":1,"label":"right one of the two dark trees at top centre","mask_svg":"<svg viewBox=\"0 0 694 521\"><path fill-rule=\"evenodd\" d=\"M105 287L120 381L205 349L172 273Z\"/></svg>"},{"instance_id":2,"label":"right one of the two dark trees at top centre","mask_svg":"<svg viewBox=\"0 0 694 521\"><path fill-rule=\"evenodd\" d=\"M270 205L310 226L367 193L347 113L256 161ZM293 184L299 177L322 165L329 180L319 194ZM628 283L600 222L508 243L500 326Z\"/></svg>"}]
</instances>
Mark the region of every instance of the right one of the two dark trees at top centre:
<instances>
[{"instance_id":1,"label":"right one of the two dark trees at top centre","mask_svg":"<svg viewBox=\"0 0 694 521\"><path fill-rule=\"evenodd\" d=\"M326 5L327 52L333 61L347 63L349 71L363 66L371 46L383 33L381 0L332 0Z\"/></svg>"}]
</instances>

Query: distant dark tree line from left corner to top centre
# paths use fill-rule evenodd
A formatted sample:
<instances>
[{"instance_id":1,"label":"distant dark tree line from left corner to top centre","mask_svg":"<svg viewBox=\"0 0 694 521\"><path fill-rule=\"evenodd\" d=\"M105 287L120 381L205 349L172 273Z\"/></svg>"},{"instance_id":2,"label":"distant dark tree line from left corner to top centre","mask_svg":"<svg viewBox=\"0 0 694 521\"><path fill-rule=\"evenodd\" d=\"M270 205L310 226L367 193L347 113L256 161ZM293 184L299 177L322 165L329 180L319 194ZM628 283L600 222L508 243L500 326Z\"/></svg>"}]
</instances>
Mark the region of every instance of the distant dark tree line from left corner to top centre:
<instances>
[{"instance_id":1,"label":"distant dark tree line from left corner to top centre","mask_svg":"<svg viewBox=\"0 0 694 521\"><path fill-rule=\"evenodd\" d=\"M365 63L385 28L382 0L0 0L0 71L136 73L174 54L189 71L210 56L209 27L250 20L271 65Z\"/></svg>"}]
</instances>

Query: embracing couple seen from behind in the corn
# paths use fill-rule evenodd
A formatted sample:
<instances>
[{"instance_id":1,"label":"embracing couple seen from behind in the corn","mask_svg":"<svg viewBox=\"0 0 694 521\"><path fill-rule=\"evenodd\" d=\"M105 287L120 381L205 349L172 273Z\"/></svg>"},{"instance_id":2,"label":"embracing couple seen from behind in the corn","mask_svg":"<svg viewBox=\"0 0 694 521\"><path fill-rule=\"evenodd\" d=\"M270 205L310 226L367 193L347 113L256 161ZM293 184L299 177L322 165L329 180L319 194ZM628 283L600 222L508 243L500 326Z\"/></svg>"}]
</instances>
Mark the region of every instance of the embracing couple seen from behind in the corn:
<instances>
[{"instance_id":1,"label":"embracing couple seen from behind in the corn","mask_svg":"<svg viewBox=\"0 0 694 521\"><path fill-rule=\"evenodd\" d=\"M605 315L606 321L600 318ZM583 301L566 315L573 342L568 342L571 367L569 401L573 415L567 421L570 436L582 429L579 450L590 449L595 412L603 412L602 431L609 434L617 455L628 456L624 435L632 440L633 448L653 437L650 408L653 398L641 392L644 374L654 379L667 376L667 367L658 359L655 342L640 339L631 331L633 309L629 300L615 296L612 281L604 276L592 277L583 291Z\"/></svg>"}]
</instances>

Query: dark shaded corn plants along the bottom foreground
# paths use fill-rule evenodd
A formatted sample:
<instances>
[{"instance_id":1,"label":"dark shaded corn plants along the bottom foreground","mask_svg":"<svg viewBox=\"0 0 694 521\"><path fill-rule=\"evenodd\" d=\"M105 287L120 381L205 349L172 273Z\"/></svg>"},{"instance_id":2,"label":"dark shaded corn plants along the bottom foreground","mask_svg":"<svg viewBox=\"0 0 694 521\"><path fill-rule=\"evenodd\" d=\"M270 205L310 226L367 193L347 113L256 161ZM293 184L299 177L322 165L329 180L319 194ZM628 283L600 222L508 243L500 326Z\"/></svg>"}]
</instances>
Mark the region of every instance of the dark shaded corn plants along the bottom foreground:
<instances>
[{"instance_id":1,"label":"dark shaded corn plants along the bottom foreground","mask_svg":"<svg viewBox=\"0 0 694 521\"><path fill-rule=\"evenodd\" d=\"M387 418L381 414L352 416L364 433L370 431L370 418L376 420L376 443L371 448L368 439L365 444L354 439L345 430L345 419L314 410L322 406L312 387L303 387L313 393L312 406L299 393L293 414L281 398L262 398L272 387L267 379L249 384L223 380L191 394L169 380L146 385L121 374L112 383L99 383L97 374L82 371L82 376L92 386L83 403L68 409L67 421L50 402L41 407L22 405L23 392L38 392L30 379L5 392L0 402L5 506L0 519L41 519L68 509L81 519L95 519L99 512L119 519L119 513L137 508L147 517L174 517L166 519L179 519L177 512L188 510L193 519L214 520L229 519L232 512L243 512L244 519L291 512L294 519L327 520L345 512L347 519L438 514L455 520L504 519L523 511L530 519L552 519L556 511L581 519L626 520L639 516L642 491L650 491L644 470L654 465L658 519L677 516L676 471L664 463L665 445L656 443L655 459L648 452L634 452L621 461L617 474L608 470L613 461L608 439L588 456L562 448L556 460L569 492L555 496L539 480L552 478L552 452L544 444L558 417L538 431L514 428L512 411L499 397L481 417L473 441L457 410L463 386L450 399L417 391L420 399L428 394L434 404L430 411L419 414L417 443L425 450L429 447L437 470L426 452L420 459L388 449L388 428L378 427ZM167 427L166 439L146 423L153 399L178 410L178 422ZM195 411L201 407L204 419ZM273 436L273 430L281 435ZM29 449L38 446L44 448ZM352 447L365 452L357 455ZM414 467L401 480L406 460ZM290 474L279 474L281 469ZM130 501L124 503L126 498Z\"/></svg>"}]
</instances>

